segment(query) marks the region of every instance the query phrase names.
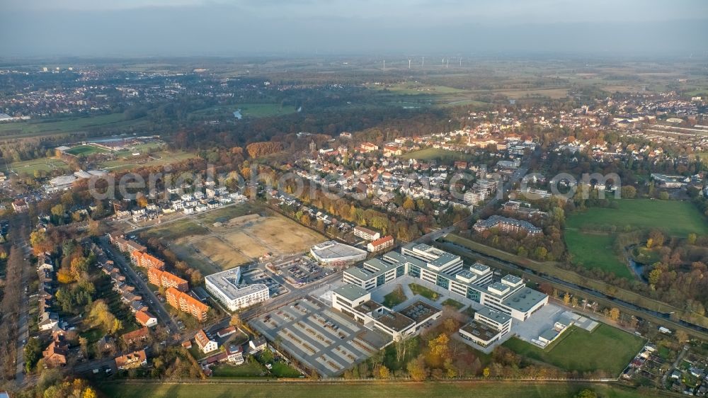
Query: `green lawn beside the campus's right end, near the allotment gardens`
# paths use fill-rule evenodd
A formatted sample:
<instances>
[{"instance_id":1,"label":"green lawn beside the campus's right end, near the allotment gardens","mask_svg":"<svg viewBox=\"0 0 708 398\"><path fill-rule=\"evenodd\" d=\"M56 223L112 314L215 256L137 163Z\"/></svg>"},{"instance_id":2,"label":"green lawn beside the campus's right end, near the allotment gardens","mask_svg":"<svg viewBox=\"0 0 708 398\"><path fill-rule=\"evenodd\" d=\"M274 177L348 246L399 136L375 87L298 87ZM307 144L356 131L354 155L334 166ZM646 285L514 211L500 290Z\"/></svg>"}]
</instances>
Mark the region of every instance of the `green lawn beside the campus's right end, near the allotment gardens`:
<instances>
[{"instance_id":1,"label":"green lawn beside the campus's right end, near the allotment gardens","mask_svg":"<svg viewBox=\"0 0 708 398\"><path fill-rule=\"evenodd\" d=\"M593 332L571 326L559 339L548 351L516 338L509 339L503 346L565 370L604 370L619 375L644 345L639 337L606 324L600 324Z\"/></svg>"}]
</instances>

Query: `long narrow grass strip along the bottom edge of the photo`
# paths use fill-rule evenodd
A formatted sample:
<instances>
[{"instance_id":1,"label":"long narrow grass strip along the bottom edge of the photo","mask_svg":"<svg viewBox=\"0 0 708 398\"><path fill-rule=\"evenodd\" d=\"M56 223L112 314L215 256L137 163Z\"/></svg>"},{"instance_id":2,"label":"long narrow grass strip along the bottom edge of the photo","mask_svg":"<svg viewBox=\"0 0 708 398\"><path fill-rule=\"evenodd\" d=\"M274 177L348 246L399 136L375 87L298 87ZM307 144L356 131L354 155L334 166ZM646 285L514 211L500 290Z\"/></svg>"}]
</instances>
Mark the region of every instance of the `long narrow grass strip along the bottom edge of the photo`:
<instances>
[{"instance_id":1,"label":"long narrow grass strip along the bottom edge of the photo","mask_svg":"<svg viewBox=\"0 0 708 398\"><path fill-rule=\"evenodd\" d=\"M298 384L270 382L195 384L169 382L110 382L98 385L108 398L193 398L193 397L476 397L476 398L569 398L583 388L590 388L603 398L661 397L651 390L630 390L610 385L537 382L427 382L427 383L341 383Z\"/></svg>"}]
</instances>

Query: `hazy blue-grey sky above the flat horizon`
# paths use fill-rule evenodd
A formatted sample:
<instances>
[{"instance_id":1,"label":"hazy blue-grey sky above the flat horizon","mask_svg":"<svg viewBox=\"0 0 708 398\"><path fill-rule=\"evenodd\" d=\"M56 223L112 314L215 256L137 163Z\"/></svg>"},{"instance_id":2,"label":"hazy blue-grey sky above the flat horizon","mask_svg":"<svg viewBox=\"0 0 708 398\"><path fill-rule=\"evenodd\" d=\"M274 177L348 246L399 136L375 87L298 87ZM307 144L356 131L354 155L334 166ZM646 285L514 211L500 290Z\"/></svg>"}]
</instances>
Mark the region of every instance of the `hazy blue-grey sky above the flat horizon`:
<instances>
[{"instance_id":1,"label":"hazy blue-grey sky above the flat horizon","mask_svg":"<svg viewBox=\"0 0 708 398\"><path fill-rule=\"evenodd\" d=\"M0 57L707 50L705 0L0 1Z\"/></svg>"}]
</instances>

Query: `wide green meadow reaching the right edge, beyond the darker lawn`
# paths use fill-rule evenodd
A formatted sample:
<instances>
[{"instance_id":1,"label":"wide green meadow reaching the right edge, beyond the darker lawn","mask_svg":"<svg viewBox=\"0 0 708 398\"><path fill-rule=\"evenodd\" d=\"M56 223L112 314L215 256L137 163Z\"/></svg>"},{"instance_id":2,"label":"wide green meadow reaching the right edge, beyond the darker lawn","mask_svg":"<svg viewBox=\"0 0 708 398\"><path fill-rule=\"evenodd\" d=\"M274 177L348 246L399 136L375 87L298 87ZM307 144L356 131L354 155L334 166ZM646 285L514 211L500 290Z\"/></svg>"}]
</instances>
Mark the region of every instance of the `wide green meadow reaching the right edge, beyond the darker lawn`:
<instances>
[{"instance_id":1,"label":"wide green meadow reaching the right edge, beyond the darker lawn","mask_svg":"<svg viewBox=\"0 0 708 398\"><path fill-rule=\"evenodd\" d=\"M656 228L672 236L685 237L691 232L708 234L708 223L690 202L678 200L621 199L619 207L591 207L585 212L568 217L566 228L579 229L583 225L616 225L622 229Z\"/></svg>"}]
</instances>

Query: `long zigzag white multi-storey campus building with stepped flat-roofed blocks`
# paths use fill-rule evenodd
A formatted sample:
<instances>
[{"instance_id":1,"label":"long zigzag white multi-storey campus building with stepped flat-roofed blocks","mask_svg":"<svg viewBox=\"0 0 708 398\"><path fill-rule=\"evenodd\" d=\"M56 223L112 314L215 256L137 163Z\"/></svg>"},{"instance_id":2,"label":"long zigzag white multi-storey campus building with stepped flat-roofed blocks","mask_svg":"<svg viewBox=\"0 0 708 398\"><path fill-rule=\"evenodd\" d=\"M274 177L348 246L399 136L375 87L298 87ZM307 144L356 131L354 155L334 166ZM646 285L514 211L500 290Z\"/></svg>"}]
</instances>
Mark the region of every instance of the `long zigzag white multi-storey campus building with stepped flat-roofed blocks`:
<instances>
[{"instance_id":1,"label":"long zigzag white multi-storey campus building with stepped flat-roofed blocks","mask_svg":"<svg viewBox=\"0 0 708 398\"><path fill-rule=\"evenodd\" d=\"M344 271L343 280L372 290L403 275L433 283L457 295L523 321L548 302L548 296L527 288L521 278L506 275L493 282L488 266L464 266L462 258L427 244L409 244L401 253L389 251Z\"/></svg>"}]
</instances>

